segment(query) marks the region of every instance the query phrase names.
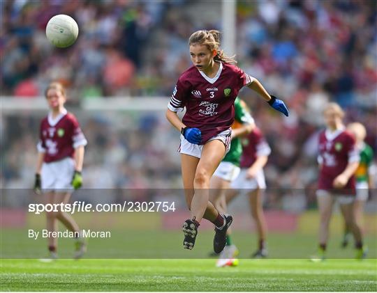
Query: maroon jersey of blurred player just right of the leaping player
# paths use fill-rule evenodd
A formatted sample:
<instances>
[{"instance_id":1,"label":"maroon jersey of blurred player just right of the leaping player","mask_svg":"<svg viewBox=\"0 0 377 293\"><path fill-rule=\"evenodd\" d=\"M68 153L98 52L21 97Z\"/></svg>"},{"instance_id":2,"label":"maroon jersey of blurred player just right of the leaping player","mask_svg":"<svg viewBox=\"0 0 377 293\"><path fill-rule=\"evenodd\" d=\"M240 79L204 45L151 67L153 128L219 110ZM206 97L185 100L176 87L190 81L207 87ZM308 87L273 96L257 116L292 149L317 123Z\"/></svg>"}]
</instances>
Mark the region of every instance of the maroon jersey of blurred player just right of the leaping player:
<instances>
[{"instance_id":1,"label":"maroon jersey of blurred player just right of the leaping player","mask_svg":"<svg viewBox=\"0 0 377 293\"><path fill-rule=\"evenodd\" d=\"M258 127L255 127L246 138L242 138L242 156L239 166L249 168L258 157L268 156L270 153L271 149L265 140L265 136Z\"/></svg>"}]
</instances>

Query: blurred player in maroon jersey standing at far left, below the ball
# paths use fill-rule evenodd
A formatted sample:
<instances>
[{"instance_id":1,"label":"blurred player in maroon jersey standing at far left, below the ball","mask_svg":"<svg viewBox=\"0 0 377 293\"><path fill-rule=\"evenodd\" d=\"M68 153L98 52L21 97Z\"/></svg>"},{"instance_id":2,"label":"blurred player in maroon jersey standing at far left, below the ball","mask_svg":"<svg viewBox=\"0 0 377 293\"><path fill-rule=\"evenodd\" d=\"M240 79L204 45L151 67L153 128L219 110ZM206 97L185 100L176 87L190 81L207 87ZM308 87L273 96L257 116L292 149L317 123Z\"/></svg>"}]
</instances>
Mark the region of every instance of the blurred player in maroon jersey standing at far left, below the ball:
<instances>
[{"instance_id":1,"label":"blurred player in maroon jersey standing at far left, below the ball","mask_svg":"<svg viewBox=\"0 0 377 293\"><path fill-rule=\"evenodd\" d=\"M34 190L45 193L45 203L68 203L73 189L82 185L82 163L84 145L87 140L72 113L64 108L66 94L64 87L53 82L45 90L50 113L40 122L40 140ZM81 231L70 214L47 212L47 230L57 231L57 221L75 232L75 258L81 258L86 250ZM50 258L57 258L57 238L48 238Z\"/></svg>"}]
</instances>

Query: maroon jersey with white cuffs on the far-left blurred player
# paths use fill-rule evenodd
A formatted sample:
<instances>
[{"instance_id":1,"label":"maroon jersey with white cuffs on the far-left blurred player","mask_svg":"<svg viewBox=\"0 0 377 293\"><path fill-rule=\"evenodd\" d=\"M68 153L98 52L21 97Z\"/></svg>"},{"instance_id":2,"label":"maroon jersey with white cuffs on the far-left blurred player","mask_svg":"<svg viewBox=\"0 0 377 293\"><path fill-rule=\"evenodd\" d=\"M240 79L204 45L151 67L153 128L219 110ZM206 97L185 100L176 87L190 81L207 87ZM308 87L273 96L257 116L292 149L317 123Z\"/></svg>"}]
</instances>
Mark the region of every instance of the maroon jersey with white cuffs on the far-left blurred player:
<instances>
[{"instance_id":1,"label":"maroon jersey with white cuffs on the far-left blurred player","mask_svg":"<svg viewBox=\"0 0 377 293\"><path fill-rule=\"evenodd\" d=\"M55 119L50 113L40 122L38 151L45 153L46 163L73 157L75 148L86 144L87 140L72 113L64 111Z\"/></svg>"}]
</instances>

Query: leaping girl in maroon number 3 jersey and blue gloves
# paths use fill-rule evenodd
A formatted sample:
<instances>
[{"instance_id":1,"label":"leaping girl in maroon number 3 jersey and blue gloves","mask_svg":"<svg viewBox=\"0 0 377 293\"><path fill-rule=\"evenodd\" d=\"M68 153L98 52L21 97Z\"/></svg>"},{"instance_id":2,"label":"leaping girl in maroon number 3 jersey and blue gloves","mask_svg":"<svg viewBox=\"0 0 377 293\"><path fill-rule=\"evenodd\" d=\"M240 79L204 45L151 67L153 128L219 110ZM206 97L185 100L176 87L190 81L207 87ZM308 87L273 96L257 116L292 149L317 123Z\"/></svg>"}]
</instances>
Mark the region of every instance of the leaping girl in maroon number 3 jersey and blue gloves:
<instances>
[{"instance_id":1,"label":"leaping girl in maroon number 3 jersey and blue gloves","mask_svg":"<svg viewBox=\"0 0 377 293\"><path fill-rule=\"evenodd\" d=\"M191 210L191 219L183 225L184 248L193 248L199 223L205 218L216 226L215 253L226 245L226 230L232 216L219 214L209 202L209 180L229 148L239 90L248 86L288 116L281 100L269 95L258 80L231 64L235 61L219 49L219 38L219 31L196 31L191 35L188 45L193 66L179 77L166 111L166 118L182 134L179 147L182 179ZM184 107L186 113L181 120L177 111L183 111Z\"/></svg>"}]
</instances>

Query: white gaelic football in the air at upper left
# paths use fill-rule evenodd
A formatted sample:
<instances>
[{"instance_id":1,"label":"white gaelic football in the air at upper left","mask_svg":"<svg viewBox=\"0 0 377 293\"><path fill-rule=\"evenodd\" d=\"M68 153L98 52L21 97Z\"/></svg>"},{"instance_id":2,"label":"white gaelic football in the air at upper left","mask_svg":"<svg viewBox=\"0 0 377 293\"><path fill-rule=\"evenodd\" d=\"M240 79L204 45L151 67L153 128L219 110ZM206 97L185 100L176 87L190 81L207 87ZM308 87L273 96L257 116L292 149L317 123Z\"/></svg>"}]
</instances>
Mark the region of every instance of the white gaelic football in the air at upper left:
<instances>
[{"instance_id":1,"label":"white gaelic football in the air at upper left","mask_svg":"<svg viewBox=\"0 0 377 293\"><path fill-rule=\"evenodd\" d=\"M46 26L46 36L52 45L65 48L71 46L78 35L78 26L71 16L59 14L52 17Z\"/></svg>"}]
</instances>

